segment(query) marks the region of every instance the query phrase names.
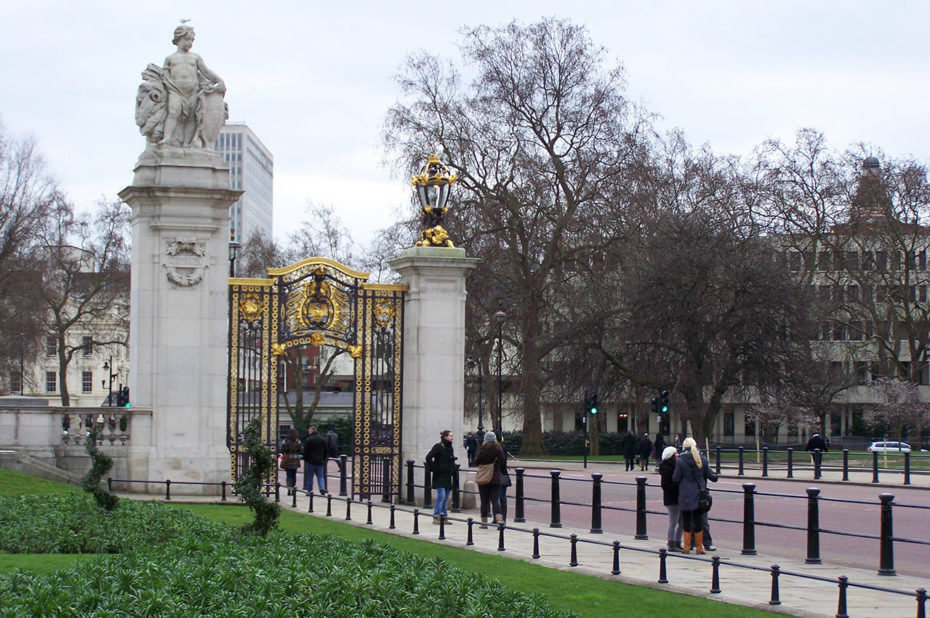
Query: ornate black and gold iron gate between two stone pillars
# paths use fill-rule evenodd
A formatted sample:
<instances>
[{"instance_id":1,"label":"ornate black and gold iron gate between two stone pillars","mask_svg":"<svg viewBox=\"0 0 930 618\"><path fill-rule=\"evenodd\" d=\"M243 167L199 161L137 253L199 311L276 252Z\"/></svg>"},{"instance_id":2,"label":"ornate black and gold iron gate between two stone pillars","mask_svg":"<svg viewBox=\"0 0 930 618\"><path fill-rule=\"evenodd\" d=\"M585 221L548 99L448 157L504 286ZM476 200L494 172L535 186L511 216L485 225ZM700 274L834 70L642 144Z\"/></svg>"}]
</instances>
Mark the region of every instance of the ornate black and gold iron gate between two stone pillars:
<instances>
[{"instance_id":1,"label":"ornate black and gold iron gate between two stone pillars","mask_svg":"<svg viewBox=\"0 0 930 618\"><path fill-rule=\"evenodd\" d=\"M226 444L233 477L247 463L242 432L253 418L276 449L281 355L329 345L355 359L353 492L399 495L406 286L368 283L368 273L325 258L269 268L268 275L229 280Z\"/></svg>"}]
</instances>

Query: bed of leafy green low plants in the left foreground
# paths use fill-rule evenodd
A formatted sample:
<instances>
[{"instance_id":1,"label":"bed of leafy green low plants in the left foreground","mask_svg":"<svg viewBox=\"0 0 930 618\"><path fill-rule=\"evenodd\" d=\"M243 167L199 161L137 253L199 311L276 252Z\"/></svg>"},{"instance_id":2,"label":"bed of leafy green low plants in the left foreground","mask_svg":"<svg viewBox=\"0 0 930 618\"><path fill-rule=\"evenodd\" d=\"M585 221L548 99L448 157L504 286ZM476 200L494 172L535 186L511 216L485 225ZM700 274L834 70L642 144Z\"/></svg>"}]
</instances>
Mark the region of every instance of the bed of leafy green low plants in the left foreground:
<instances>
[{"instance_id":1,"label":"bed of leafy green low plants in the left foreground","mask_svg":"<svg viewBox=\"0 0 930 618\"><path fill-rule=\"evenodd\" d=\"M111 517L84 499L99 526ZM60 505L33 510L44 522ZM2 615L223 615L223 616L564 616L541 597L487 577L374 541L273 532L237 535L190 513L150 504L146 525L174 528L185 519L194 534L140 542L124 526L107 529L132 549L49 575L22 571L0 576ZM195 521L196 520L196 521ZM137 523L142 523L141 521ZM218 527L217 527L218 526ZM43 530L56 542L67 537ZM224 532L225 531L225 532Z\"/></svg>"}]
</instances>

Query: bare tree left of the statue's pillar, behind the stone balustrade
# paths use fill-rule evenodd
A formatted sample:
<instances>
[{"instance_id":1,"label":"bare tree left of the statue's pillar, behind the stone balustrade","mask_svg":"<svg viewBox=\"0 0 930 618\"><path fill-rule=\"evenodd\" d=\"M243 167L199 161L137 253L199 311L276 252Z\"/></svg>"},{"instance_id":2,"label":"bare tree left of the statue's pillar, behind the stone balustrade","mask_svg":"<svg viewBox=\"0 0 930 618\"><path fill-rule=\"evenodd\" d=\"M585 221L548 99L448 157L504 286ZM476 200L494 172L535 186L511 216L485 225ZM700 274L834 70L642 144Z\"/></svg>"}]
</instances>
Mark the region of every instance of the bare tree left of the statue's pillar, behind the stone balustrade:
<instances>
[{"instance_id":1,"label":"bare tree left of the statue's pillar, behind the stone balustrade","mask_svg":"<svg viewBox=\"0 0 930 618\"><path fill-rule=\"evenodd\" d=\"M127 345L129 333L129 209L102 200L93 217L62 202L39 232L40 307L46 332L57 341L61 405L70 405L68 365L94 345Z\"/></svg>"}]
</instances>

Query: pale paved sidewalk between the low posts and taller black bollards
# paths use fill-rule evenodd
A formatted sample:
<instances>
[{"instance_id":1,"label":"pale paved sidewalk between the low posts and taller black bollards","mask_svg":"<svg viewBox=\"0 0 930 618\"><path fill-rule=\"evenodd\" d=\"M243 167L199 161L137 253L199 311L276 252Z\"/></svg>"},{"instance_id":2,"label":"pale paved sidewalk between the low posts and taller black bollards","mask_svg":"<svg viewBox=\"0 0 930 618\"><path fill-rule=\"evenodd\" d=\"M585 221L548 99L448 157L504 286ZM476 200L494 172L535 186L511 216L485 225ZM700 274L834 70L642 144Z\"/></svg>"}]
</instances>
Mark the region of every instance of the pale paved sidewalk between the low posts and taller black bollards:
<instances>
[{"instance_id":1,"label":"pale paved sidewalk between the low posts and taller black bollards","mask_svg":"<svg viewBox=\"0 0 930 618\"><path fill-rule=\"evenodd\" d=\"M177 497L176 500L183 500ZM771 557L744 556L739 551L718 550L703 556L694 553L682 555L670 553L666 560L666 579L668 583L658 583L660 575L660 552L664 542L636 540L631 536L606 537L603 534L591 534L588 529L571 527L550 528L548 523L509 522L501 529L489 525L481 529L478 523L472 524L472 543L468 544L467 513L451 513L451 526L438 526L432 523L432 509L420 513L417 519L418 534L414 534L414 508L397 505L394 509L394 527L391 527L390 505L380 501L372 502L371 523L368 523L368 504L358 500L352 501L347 510L347 498L332 496L331 501L323 496L314 496L313 512L308 497L300 493L296 507L291 496L281 490L281 506L307 514L311 517L331 517L339 521L369 527L388 534L397 534L432 543L443 543L472 551L498 554L542 566L577 571L594 577L612 579L619 582L648 586L658 590L667 590L691 596L715 599L767 611L793 616L836 616L840 599L840 576L848 578L846 591L847 614L849 616L916 616L917 601L915 591L928 587L927 580L909 577L880 576L874 570L853 569L837 565L812 565L800 560L779 559L779 594L780 605L770 605L772 599L772 559ZM327 515L329 510L330 515ZM347 514L351 519L347 520ZM533 528L539 530L539 558L534 559ZM440 539L440 534L444 538ZM571 535L575 535L577 566L571 566ZM501 540L503 538L503 541ZM619 542L620 573L614 575L613 543ZM501 546L503 544L503 550ZM713 578L713 557L719 558L720 592L711 592ZM751 568L740 568L737 565ZM798 577L804 575L818 579ZM865 586L862 588L860 586ZM876 590L890 588L903 594L893 594Z\"/></svg>"}]
</instances>

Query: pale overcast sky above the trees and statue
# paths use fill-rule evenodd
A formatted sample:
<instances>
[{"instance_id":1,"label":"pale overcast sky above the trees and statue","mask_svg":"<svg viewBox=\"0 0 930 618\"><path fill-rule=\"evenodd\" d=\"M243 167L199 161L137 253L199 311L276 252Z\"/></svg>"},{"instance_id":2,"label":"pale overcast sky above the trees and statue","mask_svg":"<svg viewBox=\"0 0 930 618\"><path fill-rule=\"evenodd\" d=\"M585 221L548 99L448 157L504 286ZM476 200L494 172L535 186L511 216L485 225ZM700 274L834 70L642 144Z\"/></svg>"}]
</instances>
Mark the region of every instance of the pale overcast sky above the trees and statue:
<instances>
[{"instance_id":1,"label":"pale overcast sky above the trees and statue","mask_svg":"<svg viewBox=\"0 0 930 618\"><path fill-rule=\"evenodd\" d=\"M861 141L930 162L925 1L0 0L0 121L36 138L78 206L115 198L145 145L140 74L190 19L230 120L274 155L275 236L313 200L364 244L409 199L380 140L407 55L454 61L461 27L544 16L586 25L623 63L628 97L694 144L745 155L813 127L839 149Z\"/></svg>"}]
</instances>

